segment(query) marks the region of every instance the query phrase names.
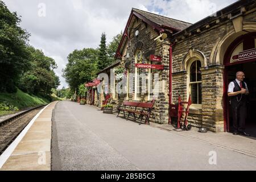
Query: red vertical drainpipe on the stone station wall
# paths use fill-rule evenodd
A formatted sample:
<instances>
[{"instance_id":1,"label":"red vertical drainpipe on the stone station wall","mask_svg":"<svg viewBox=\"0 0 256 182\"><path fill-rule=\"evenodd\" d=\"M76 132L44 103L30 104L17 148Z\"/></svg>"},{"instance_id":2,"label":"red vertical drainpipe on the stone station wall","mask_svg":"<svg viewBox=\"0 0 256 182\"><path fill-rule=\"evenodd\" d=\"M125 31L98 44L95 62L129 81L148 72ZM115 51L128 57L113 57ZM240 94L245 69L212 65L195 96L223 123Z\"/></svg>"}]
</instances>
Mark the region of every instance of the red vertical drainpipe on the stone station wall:
<instances>
[{"instance_id":1,"label":"red vertical drainpipe on the stone station wall","mask_svg":"<svg viewBox=\"0 0 256 182\"><path fill-rule=\"evenodd\" d=\"M171 105L172 105L172 46L174 46L175 43L170 45L170 49L169 49L169 110L168 110L168 115L169 115L169 119L168 119L168 124L171 125L172 121L171 121Z\"/></svg>"}]
</instances>

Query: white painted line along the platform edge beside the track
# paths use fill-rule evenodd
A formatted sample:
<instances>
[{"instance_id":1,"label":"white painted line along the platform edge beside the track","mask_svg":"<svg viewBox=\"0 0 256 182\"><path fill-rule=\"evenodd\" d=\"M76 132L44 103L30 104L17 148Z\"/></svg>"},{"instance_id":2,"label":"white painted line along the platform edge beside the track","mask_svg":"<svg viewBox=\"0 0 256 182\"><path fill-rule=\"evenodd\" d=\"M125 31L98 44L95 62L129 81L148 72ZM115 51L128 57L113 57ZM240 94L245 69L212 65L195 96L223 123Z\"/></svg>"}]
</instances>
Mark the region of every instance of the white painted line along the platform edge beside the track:
<instances>
[{"instance_id":1,"label":"white painted line along the platform edge beside the track","mask_svg":"<svg viewBox=\"0 0 256 182\"><path fill-rule=\"evenodd\" d=\"M51 104L51 103L50 103ZM39 111L38 114L35 115L33 119L31 119L30 123L24 128L24 130L18 135L18 137L13 141L13 143L10 144L8 148L3 152L2 155L0 155L0 169L3 167L3 164L6 163L6 160L9 159L11 154L13 154L13 151L15 150L16 146L18 146L20 140L26 135L27 131L30 129L30 127L34 124L35 120L39 117L39 115L48 107L50 104L45 106L42 110Z\"/></svg>"}]
</instances>

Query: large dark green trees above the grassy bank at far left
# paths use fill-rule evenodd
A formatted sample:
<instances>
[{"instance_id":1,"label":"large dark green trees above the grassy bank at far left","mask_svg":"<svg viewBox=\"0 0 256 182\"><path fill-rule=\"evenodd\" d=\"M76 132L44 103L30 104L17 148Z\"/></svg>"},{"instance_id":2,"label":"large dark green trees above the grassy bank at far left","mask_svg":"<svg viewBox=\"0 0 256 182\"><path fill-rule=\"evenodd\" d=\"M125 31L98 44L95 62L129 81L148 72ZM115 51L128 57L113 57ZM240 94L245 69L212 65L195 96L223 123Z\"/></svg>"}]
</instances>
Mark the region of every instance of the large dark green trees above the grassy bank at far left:
<instances>
[{"instance_id":1,"label":"large dark green trees above the grassy bank at far left","mask_svg":"<svg viewBox=\"0 0 256 182\"><path fill-rule=\"evenodd\" d=\"M0 0L0 92L24 92L51 100L52 88L60 84L53 69L55 61L34 47L28 46L26 30L19 27L20 18Z\"/></svg>"}]
</instances>

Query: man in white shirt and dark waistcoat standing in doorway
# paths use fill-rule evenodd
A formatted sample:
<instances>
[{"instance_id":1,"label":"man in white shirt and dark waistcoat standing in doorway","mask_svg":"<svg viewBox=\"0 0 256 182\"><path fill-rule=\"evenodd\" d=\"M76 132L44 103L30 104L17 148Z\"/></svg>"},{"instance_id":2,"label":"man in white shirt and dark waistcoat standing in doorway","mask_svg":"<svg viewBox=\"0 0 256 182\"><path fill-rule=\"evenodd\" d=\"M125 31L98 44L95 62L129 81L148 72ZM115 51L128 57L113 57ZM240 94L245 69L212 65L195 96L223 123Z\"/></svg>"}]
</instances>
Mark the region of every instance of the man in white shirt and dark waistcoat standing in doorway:
<instances>
[{"instance_id":1,"label":"man in white shirt and dark waistcoat standing in doorway","mask_svg":"<svg viewBox=\"0 0 256 182\"><path fill-rule=\"evenodd\" d=\"M228 88L228 96L231 101L232 115L233 115L233 135L242 134L250 137L245 133L245 119L246 119L246 96L249 94L246 82L243 81L245 73L237 72L236 80L230 82Z\"/></svg>"}]
</instances>

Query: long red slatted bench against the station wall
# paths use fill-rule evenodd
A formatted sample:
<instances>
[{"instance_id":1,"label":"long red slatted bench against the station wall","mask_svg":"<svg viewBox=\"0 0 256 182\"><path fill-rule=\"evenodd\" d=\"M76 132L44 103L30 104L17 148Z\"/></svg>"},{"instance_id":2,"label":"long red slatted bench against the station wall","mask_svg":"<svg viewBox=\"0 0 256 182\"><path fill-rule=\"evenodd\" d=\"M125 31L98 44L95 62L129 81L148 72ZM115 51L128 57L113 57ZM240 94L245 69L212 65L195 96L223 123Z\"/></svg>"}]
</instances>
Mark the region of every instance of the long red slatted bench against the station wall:
<instances>
[{"instance_id":1,"label":"long red slatted bench against the station wall","mask_svg":"<svg viewBox=\"0 0 256 182\"><path fill-rule=\"evenodd\" d=\"M125 101L125 102L123 102L123 108L121 106L119 106L117 108L118 109L117 117L119 116L120 112L123 111L123 115L125 118L126 118L125 112L129 113L126 120L128 120L130 115L133 114L134 121L136 121L135 114L139 114L139 119L141 119L141 122L143 120L143 117L146 117L145 124L150 125L149 118L150 118L150 114L151 114L152 108L154 106L154 103L155 103L155 100L152 100L152 102L147 102L147 103ZM132 108L132 107L134 107L134 108ZM137 110L137 109L140 109L140 110ZM141 122L139 122L139 125L141 125Z\"/></svg>"}]
</instances>

